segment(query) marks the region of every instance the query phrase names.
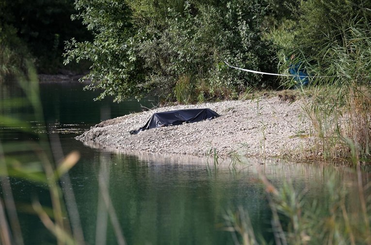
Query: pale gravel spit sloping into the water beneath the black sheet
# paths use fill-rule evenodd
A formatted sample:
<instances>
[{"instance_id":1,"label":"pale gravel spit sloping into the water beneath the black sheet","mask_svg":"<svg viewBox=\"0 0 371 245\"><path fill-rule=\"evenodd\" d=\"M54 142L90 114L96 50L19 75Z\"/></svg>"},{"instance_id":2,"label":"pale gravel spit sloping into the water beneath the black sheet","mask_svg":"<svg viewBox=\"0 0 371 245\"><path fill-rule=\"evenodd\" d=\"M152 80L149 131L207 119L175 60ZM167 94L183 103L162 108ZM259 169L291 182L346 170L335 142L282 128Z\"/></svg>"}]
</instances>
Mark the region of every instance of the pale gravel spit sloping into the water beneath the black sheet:
<instances>
[{"instance_id":1,"label":"pale gravel spit sloping into the water beneath the black sheet","mask_svg":"<svg viewBox=\"0 0 371 245\"><path fill-rule=\"evenodd\" d=\"M107 120L78 136L86 145L118 151L145 151L207 156L288 157L310 154L310 122L302 115L303 101L279 97L176 105ZM210 108L220 117L199 123L160 127L130 135L154 112Z\"/></svg>"}]
</instances>

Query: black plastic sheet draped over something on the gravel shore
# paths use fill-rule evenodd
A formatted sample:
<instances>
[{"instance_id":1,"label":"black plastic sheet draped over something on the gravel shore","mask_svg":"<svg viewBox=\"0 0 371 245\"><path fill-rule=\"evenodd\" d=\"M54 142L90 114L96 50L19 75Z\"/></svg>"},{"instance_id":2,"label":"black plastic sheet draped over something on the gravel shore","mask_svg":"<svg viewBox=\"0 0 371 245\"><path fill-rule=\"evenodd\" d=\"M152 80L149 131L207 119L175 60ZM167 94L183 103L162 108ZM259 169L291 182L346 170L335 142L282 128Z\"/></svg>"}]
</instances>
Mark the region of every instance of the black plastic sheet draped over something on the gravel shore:
<instances>
[{"instance_id":1,"label":"black plastic sheet draped over something on the gravel shore","mask_svg":"<svg viewBox=\"0 0 371 245\"><path fill-rule=\"evenodd\" d=\"M130 134L137 134L140 131L150 128L179 125L182 123L195 123L217 117L219 117L219 114L209 108L158 112L154 113L143 127L138 130L130 131Z\"/></svg>"}]
</instances>

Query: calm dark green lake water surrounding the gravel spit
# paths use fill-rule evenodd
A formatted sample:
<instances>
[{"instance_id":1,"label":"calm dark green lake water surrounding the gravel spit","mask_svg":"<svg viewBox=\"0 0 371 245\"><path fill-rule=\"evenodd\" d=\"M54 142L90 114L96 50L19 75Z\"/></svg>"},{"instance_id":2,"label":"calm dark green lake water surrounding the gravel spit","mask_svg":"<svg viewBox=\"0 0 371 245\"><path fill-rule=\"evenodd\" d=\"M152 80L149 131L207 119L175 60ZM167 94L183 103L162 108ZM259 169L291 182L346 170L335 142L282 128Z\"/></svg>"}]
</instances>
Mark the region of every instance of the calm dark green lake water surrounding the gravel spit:
<instances>
[{"instance_id":1,"label":"calm dark green lake water surrounding the gravel spit","mask_svg":"<svg viewBox=\"0 0 371 245\"><path fill-rule=\"evenodd\" d=\"M355 179L350 171L324 164L245 159L233 167L229 160L214 165L206 158L89 148L74 137L102 120L140 111L141 105L150 107L152 102L115 104L112 98L93 102L97 92L82 91L80 84L42 84L45 130L42 120L34 118L34 110L25 106L29 102L19 88L0 88L0 115L32 125L31 132L26 132L16 122L0 122L6 157L33 166L34 152L22 147L38 140L38 133L43 132L52 143L50 152L54 152L54 158L80 152L80 160L69 172L69 178L62 179L61 187L67 195L74 194L79 215L71 214L71 221L79 222L76 217L80 218L86 244L117 244L115 227L130 245L235 244L232 234L225 230L224 216L240 207L248 213L254 230L270 241L271 210L260 175L276 187L290 179L295 189L306 192L308 199L325 195L323 185L329 176L344 181ZM55 244L53 235L27 208L35 199L50 206L46 186L22 178L9 179L24 243ZM105 198L110 209L106 208Z\"/></svg>"}]
</instances>

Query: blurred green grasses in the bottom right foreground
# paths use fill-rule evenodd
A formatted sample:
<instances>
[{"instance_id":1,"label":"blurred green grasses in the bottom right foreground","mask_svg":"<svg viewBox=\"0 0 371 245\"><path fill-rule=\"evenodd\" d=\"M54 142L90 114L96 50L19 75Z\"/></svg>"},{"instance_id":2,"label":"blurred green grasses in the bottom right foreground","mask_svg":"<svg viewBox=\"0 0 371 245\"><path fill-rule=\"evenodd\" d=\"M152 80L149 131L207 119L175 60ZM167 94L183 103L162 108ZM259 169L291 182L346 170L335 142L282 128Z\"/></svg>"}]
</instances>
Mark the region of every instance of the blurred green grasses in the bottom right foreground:
<instances>
[{"instance_id":1,"label":"blurred green grasses in the bottom right foreground","mask_svg":"<svg viewBox=\"0 0 371 245\"><path fill-rule=\"evenodd\" d=\"M298 191L297 185L285 180L275 188L261 176L272 210L272 229L275 244L370 244L371 199L370 186L362 183L362 172L352 176L349 185L335 175L323 183L323 197L313 199L307 190ZM238 235L241 244L271 244L257 236L246 211L228 212L226 230ZM257 239L257 238L260 239Z\"/></svg>"}]
</instances>

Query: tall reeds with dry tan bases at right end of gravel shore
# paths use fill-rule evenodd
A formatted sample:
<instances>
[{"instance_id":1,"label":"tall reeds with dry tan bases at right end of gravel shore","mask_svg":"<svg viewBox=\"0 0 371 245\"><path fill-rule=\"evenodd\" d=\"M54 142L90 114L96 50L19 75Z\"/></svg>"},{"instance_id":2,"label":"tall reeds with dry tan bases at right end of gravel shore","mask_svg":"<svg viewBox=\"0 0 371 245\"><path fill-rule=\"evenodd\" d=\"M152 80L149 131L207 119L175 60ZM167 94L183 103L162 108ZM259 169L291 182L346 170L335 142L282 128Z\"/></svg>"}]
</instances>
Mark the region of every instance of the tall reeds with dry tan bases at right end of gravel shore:
<instances>
[{"instance_id":1,"label":"tall reeds with dry tan bases at right end of gravel shore","mask_svg":"<svg viewBox=\"0 0 371 245\"><path fill-rule=\"evenodd\" d=\"M342 43L327 36L325 55L305 60L317 76L304 108L317 138L313 150L327 159L370 162L371 24L360 18L339 28Z\"/></svg>"}]
</instances>

